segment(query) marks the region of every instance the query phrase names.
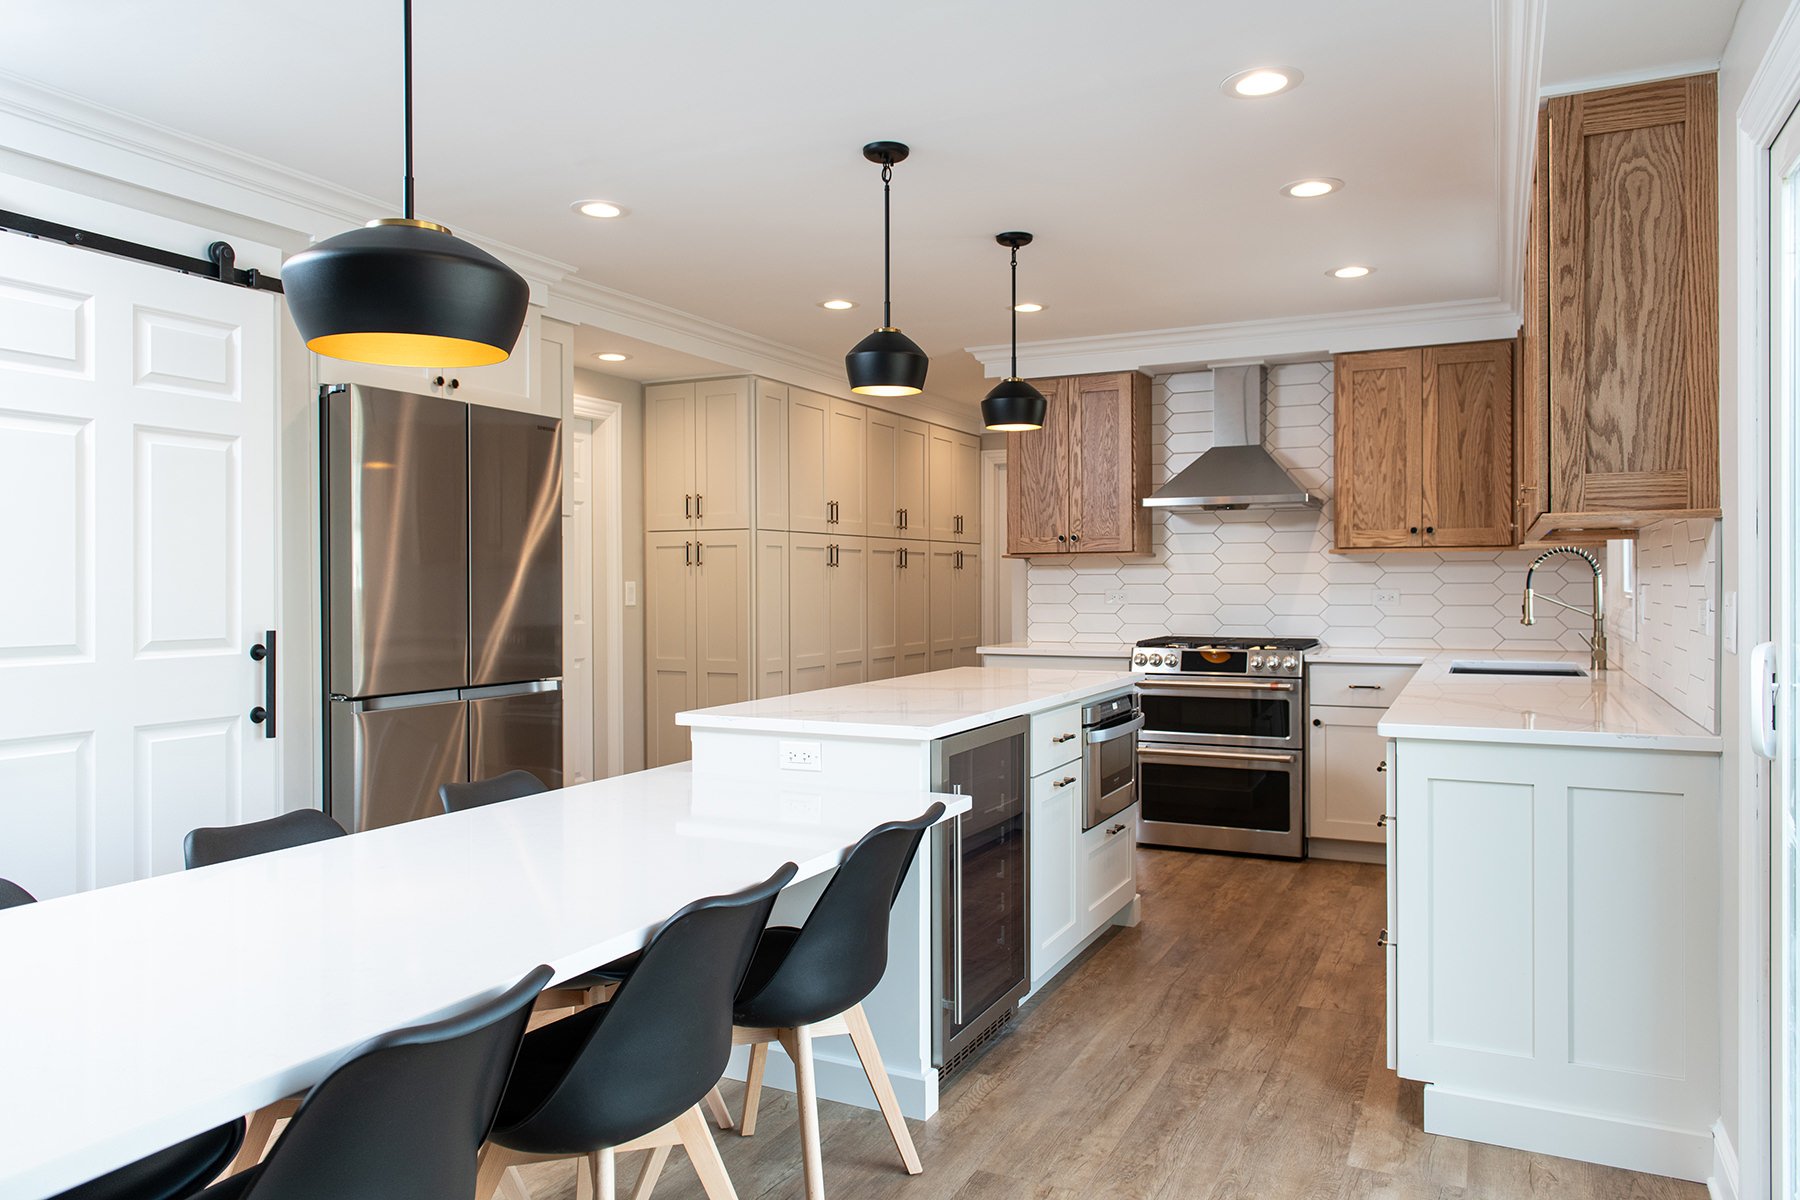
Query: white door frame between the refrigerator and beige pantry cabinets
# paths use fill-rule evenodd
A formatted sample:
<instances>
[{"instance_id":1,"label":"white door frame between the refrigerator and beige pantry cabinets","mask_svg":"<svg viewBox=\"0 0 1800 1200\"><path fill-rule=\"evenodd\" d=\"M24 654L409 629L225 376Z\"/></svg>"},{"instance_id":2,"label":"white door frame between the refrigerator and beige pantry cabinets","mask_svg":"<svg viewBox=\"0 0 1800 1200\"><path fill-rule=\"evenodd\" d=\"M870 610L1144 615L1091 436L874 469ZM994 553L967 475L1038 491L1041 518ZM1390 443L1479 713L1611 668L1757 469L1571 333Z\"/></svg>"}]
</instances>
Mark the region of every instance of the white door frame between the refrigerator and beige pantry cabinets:
<instances>
[{"instance_id":1,"label":"white door frame between the refrigerator and beige pantry cabinets","mask_svg":"<svg viewBox=\"0 0 1800 1200\"><path fill-rule=\"evenodd\" d=\"M625 772L625 405L576 396L574 414L594 423L594 775Z\"/></svg>"}]
</instances>

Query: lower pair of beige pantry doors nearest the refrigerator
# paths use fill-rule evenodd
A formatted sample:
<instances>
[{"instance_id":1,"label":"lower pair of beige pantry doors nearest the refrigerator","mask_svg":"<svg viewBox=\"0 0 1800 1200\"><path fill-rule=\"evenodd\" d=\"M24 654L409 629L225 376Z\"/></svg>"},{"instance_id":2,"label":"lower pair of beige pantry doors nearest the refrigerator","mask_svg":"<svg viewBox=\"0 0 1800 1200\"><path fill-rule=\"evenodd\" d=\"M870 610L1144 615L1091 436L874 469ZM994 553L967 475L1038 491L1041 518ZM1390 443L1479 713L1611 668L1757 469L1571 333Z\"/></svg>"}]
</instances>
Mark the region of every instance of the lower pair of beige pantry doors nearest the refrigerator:
<instances>
[{"instance_id":1,"label":"lower pair of beige pantry doors nearest the refrigerator","mask_svg":"<svg viewBox=\"0 0 1800 1200\"><path fill-rule=\"evenodd\" d=\"M689 756L677 712L751 694L749 531L653 531L644 590L644 761L662 766Z\"/></svg>"}]
</instances>

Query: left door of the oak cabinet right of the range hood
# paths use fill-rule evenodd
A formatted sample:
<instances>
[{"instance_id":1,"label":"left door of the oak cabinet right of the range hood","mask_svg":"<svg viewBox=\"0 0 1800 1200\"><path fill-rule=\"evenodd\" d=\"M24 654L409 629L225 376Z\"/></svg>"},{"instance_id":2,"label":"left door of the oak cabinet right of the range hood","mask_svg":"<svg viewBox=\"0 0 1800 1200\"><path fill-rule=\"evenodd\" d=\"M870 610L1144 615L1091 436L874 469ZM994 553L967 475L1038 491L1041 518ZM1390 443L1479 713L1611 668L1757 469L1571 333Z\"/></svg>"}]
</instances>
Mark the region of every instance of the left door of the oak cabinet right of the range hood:
<instances>
[{"instance_id":1,"label":"left door of the oak cabinet right of the range hood","mask_svg":"<svg viewBox=\"0 0 1800 1200\"><path fill-rule=\"evenodd\" d=\"M1422 545L1420 353L1337 358L1337 545Z\"/></svg>"}]
</instances>

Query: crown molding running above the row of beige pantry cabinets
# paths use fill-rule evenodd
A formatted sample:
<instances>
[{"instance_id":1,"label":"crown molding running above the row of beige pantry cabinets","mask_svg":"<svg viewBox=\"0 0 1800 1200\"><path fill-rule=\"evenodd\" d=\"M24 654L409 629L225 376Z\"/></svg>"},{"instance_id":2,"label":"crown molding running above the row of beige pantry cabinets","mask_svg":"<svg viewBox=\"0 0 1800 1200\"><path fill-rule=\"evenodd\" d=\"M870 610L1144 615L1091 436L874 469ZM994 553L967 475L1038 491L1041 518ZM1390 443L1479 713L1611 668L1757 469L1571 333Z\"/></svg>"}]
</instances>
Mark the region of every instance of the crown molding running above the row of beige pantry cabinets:
<instances>
[{"instance_id":1,"label":"crown molding running above the row of beige pantry cabinets","mask_svg":"<svg viewBox=\"0 0 1800 1200\"><path fill-rule=\"evenodd\" d=\"M940 425L967 432L981 428L974 405L963 405L934 392L907 396L904 401L857 396L844 380L841 362L706 317L695 317L630 291L607 288L580 275L567 275L551 286L545 315L707 358L720 363L718 374L760 374L900 416L931 417Z\"/></svg>"}]
</instances>

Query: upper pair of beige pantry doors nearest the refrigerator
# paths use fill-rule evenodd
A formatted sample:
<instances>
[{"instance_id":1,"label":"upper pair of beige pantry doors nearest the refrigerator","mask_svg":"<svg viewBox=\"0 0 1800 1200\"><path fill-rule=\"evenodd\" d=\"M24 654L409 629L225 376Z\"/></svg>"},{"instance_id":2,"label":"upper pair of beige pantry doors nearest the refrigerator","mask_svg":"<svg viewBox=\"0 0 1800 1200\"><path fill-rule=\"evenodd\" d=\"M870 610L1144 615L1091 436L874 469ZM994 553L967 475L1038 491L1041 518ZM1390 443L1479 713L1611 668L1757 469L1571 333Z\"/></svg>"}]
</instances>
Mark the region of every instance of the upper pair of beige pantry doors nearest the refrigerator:
<instances>
[{"instance_id":1,"label":"upper pair of beige pantry doors nearest the refrigerator","mask_svg":"<svg viewBox=\"0 0 1800 1200\"><path fill-rule=\"evenodd\" d=\"M751 527L752 380L644 389L644 525Z\"/></svg>"}]
</instances>

